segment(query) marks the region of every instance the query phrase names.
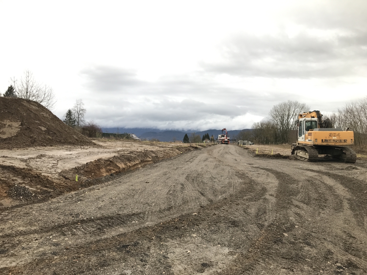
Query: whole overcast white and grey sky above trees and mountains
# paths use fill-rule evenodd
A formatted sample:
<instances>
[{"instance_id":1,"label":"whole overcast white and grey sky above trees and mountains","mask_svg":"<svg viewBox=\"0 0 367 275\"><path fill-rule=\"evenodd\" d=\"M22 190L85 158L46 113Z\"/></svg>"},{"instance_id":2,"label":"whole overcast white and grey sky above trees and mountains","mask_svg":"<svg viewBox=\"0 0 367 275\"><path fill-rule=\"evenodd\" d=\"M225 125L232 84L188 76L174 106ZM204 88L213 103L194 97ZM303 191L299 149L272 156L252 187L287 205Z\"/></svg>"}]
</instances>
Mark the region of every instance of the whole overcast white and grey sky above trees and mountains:
<instances>
[{"instance_id":1,"label":"whole overcast white and grey sky above trees and mountains","mask_svg":"<svg viewBox=\"0 0 367 275\"><path fill-rule=\"evenodd\" d=\"M283 100L367 95L367 1L1 1L0 92L24 70L62 117L243 129Z\"/></svg>"}]
</instances>

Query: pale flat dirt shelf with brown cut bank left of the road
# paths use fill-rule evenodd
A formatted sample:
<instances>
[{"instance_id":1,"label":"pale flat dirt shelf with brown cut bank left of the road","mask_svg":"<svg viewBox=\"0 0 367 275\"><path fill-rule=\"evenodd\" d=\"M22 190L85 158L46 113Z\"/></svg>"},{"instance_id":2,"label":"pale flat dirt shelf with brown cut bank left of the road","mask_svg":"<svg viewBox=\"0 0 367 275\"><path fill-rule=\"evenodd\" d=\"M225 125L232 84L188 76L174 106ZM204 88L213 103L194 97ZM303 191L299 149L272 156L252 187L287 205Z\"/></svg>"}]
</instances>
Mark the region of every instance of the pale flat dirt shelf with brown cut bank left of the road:
<instances>
[{"instance_id":1,"label":"pale flat dirt shelf with brown cut bank left of the road","mask_svg":"<svg viewBox=\"0 0 367 275\"><path fill-rule=\"evenodd\" d=\"M100 147L97 148L68 147L69 152L61 150L62 147L59 150L38 148L36 153L29 149L1 150L0 209L55 198L66 192L110 181L117 174L146 164L201 148L190 147L189 144L121 141L99 141L98 145Z\"/></svg>"}]
</instances>

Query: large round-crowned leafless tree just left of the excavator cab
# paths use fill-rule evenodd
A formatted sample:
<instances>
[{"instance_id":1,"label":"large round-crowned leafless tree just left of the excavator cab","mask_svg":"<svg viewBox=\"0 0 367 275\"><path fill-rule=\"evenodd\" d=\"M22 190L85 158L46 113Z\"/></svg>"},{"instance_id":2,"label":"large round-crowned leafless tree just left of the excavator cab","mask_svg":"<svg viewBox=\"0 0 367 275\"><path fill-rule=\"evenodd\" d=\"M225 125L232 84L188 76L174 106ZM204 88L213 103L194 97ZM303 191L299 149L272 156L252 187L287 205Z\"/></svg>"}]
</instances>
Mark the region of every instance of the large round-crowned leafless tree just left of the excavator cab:
<instances>
[{"instance_id":1,"label":"large round-crowned leafless tree just left of the excavator cab","mask_svg":"<svg viewBox=\"0 0 367 275\"><path fill-rule=\"evenodd\" d=\"M273 106L269 120L277 129L276 141L289 143L289 134L297 129L298 114L309 111L310 107L298 101L284 101Z\"/></svg>"}]
</instances>

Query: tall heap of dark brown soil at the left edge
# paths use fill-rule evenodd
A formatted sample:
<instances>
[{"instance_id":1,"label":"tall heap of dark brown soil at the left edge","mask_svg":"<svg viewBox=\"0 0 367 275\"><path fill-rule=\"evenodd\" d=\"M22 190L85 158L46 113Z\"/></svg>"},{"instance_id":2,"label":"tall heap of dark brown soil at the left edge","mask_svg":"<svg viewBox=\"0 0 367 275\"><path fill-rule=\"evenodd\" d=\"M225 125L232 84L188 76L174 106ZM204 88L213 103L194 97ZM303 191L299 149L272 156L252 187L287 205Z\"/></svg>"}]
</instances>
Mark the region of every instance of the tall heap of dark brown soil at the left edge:
<instances>
[{"instance_id":1,"label":"tall heap of dark brown soil at the left edge","mask_svg":"<svg viewBox=\"0 0 367 275\"><path fill-rule=\"evenodd\" d=\"M0 97L0 149L65 144L94 143L37 102Z\"/></svg>"}]
</instances>

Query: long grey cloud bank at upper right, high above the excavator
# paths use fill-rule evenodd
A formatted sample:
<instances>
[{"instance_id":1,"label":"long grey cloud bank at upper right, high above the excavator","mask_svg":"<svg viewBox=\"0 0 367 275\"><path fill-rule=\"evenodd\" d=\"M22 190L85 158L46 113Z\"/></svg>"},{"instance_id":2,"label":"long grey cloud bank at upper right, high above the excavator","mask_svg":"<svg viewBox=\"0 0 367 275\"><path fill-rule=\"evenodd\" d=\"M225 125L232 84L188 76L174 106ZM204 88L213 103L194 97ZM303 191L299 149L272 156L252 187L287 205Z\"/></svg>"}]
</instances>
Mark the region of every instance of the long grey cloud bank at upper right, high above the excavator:
<instances>
[{"instance_id":1,"label":"long grey cloud bank at upper right, high above the excavator","mask_svg":"<svg viewBox=\"0 0 367 275\"><path fill-rule=\"evenodd\" d=\"M367 23L367 22L366 22ZM366 73L367 32L319 37L242 35L222 50L225 61L203 64L212 72L272 78L332 78Z\"/></svg>"}]
</instances>

